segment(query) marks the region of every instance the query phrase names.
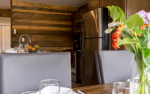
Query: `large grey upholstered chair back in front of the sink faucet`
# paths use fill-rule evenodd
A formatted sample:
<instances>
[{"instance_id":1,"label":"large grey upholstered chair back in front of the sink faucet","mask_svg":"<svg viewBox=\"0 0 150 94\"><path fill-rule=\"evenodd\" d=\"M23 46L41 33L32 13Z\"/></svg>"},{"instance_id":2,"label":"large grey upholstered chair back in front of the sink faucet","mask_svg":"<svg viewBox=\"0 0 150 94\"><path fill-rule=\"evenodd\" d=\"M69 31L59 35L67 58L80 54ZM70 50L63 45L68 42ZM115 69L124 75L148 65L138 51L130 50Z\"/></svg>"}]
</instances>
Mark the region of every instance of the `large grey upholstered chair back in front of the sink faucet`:
<instances>
[{"instance_id":1,"label":"large grey upholstered chair back in front of the sink faucet","mask_svg":"<svg viewBox=\"0 0 150 94\"><path fill-rule=\"evenodd\" d=\"M0 94L38 91L44 79L71 88L70 53L0 54Z\"/></svg>"}]
</instances>

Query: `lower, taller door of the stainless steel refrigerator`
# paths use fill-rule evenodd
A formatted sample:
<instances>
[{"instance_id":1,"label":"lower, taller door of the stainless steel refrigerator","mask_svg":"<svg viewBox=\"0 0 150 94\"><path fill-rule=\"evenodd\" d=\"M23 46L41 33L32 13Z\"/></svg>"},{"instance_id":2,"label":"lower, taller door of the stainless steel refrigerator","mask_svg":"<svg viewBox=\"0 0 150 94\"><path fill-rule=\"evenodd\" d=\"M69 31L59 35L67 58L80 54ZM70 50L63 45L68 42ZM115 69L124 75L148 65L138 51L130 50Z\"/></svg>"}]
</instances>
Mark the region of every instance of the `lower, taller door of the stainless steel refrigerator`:
<instances>
[{"instance_id":1,"label":"lower, taller door of the stainless steel refrigerator","mask_svg":"<svg viewBox=\"0 0 150 94\"><path fill-rule=\"evenodd\" d=\"M85 55L83 57L83 72L82 72L82 85L96 85L98 84L96 63L95 63L95 51L101 50L102 38L86 39L82 42L85 44Z\"/></svg>"}]
</instances>

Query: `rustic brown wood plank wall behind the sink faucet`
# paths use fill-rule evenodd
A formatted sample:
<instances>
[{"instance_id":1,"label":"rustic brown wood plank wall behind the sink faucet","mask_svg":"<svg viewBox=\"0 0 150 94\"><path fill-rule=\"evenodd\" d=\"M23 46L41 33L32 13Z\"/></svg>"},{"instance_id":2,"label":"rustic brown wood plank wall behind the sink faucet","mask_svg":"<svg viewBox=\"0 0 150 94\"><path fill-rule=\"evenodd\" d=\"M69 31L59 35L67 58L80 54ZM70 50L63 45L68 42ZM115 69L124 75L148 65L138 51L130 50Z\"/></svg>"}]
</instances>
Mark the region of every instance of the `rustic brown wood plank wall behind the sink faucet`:
<instances>
[{"instance_id":1,"label":"rustic brown wood plank wall behind the sink faucet","mask_svg":"<svg viewBox=\"0 0 150 94\"><path fill-rule=\"evenodd\" d=\"M75 7L12 1L12 47L19 37L27 34L41 50L73 48L71 36L71 13ZM16 29L17 34L14 33ZM28 39L25 38L25 43Z\"/></svg>"}]
</instances>

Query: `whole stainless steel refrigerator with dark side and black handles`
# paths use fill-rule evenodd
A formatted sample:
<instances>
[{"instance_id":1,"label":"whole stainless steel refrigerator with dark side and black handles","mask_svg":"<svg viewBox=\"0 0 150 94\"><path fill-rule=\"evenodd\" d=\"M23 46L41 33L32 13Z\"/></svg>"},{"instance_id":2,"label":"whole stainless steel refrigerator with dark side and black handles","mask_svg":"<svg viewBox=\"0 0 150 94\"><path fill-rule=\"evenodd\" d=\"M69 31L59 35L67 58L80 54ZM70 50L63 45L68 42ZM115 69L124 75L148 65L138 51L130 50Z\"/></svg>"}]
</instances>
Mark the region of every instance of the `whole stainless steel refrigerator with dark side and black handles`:
<instances>
[{"instance_id":1,"label":"whole stainless steel refrigerator with dark side and black handles","mask_svg":"<svg viewBox=\"0 0 150 94\"><path fill-rule=\"evenodd\" d=\"M82 30L82 84L83 86L98 84L95 51L109 49L108 10L98 8L83 14Z\"/></svg>"}]
</instances>

